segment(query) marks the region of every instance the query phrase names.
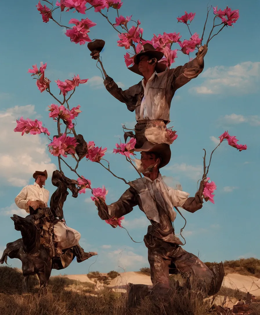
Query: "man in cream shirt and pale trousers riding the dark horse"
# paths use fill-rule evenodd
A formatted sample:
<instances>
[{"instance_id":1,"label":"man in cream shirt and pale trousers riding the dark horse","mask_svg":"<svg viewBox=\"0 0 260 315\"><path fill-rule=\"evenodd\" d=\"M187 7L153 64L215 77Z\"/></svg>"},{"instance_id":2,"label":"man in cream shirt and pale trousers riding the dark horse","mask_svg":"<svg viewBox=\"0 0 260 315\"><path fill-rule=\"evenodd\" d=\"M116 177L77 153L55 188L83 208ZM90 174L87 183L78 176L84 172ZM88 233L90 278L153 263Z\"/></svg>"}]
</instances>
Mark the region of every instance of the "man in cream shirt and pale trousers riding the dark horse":
<instances>
[{"instance_id":1,"label":"man in cream shirt and pale trousers riding the dark horse","mask_svg":"<svg viewBox=\"0 0 260 315\"><path fill-rule=\"evenodd\" d=\"M80 233L68 227L63 219L62 207L68 195L67 189L71 190L74 198L78 195L76 181L65 177L63 172L54 171L52 184L58 188L51 196L50 208L47 208L49 191L44 188L47 177L46 170L35 171L33 174L35 183L25 186L15 198L17 207L29 213L28 219L34 220L35 224L41 228L42 243L53 249L53 256L58 254L62 258L62 250L70 248L77 257L77 262L97 255L96 252L84 252L79 245Z\"/></svg>"}]
</instances>

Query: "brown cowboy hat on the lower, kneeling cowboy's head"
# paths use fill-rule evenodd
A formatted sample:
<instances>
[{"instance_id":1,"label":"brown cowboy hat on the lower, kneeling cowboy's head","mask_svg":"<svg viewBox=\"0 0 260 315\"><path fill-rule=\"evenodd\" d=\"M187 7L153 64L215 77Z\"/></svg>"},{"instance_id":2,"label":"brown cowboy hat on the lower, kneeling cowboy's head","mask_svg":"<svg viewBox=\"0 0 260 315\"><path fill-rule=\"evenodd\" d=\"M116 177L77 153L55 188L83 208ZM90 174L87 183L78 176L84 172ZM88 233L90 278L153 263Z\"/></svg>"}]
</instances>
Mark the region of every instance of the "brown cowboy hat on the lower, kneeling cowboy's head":
<instances>
[{"instance_id":1,"label":"brown cowboy hat on the lower, kneeling cowboy's head","mask_svg":"<svg viewBox=\"0 0 260 315\"><path fill-rule=\"evenodd\" d=\"M154 144L150 141L146 141L140 149L134 149L136 152L152 152L160 155L161 163L159 168L164 167L170 162L171 149L167 143Z\"/></svg>"}]
</instances>

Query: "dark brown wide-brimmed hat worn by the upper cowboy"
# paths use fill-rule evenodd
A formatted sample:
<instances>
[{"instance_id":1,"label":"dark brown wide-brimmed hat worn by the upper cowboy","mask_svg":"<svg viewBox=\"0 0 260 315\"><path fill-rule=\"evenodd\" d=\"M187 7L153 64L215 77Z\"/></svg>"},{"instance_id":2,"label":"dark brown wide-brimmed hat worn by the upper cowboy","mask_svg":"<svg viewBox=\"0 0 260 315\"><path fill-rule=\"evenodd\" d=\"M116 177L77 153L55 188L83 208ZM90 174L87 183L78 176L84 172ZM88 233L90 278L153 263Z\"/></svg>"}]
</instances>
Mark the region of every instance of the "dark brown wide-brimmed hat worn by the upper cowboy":
<instances>
[{"instance_id":1,"label":"dark brown wide-brimmed hat worn by the upper cowboy","mask_svg":"<svg viewBox=\"0 0 260 315\"><path fill-rule=\"evenodd\" d=\"M139 67L138 67L138 64L139 64L139 61L140 61L140 58L141 56L149 56L151 58L156 58L157 61L161 60L163 58L163 52L162 51L157 51L153 45L149 44L149 43L146 43L144 44L144 50L139 53L139 54L136 54L133 58L133 61L134 61L134 65L132 67L129 67L128 69L131 70L132 72L134 73L137 73L139 75L143 75L142 72L139 71ZM163 63L160 63L160 62L157 62L156 66L155 66L155 71L157 73L160 73L160 72L163 72L167 69L167 66Z\"/></svg>"}]
</instances>

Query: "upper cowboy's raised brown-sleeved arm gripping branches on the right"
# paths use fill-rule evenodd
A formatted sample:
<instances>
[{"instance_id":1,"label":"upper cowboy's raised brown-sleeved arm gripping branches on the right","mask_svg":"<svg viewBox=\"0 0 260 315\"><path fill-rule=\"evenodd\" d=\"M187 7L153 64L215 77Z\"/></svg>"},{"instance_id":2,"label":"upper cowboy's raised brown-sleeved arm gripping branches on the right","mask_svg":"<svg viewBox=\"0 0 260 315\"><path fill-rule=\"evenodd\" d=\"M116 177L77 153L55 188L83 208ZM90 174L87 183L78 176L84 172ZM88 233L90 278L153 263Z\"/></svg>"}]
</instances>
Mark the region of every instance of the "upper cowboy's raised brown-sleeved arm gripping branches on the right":
<instances>
[{"instance_id":1,"label":"upper cowboy's raised brown-sleeved arm gripping branches on the right","mask_svg":"<svg viewBox=\"0 0 260 315\"><path fill-rule=\"evenodd\" d=\"M172 87L175 90L188 83L191 79L198 77L204 68L204 56L207 53L206 45L198 50L198 55L184 66L178 66L173 71Z\"/></svg>"}]
</instances>

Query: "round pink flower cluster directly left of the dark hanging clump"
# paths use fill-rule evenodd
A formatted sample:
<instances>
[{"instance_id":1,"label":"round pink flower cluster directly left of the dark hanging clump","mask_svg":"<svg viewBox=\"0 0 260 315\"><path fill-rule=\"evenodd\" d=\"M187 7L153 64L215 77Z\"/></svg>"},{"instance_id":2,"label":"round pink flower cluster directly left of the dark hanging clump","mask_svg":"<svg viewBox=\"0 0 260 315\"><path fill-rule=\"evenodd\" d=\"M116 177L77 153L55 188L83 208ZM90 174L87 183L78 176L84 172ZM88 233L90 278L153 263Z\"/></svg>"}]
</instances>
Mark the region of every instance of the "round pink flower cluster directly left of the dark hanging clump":
<instances>
[{"instance_id":1,"label":"round pink flower cluster directly left of the dark hanging clump","mask_svg":"<svg viewBox=\"0 0 260 315\"><path fill-rule=\"evenodd\" d=\"M77 146L78 142L76 142L75 137L67 137L64 133L60 137L53 137L51 143L48 144L49 151L54 156L62 155L67 157L66 154L75 154L75 147Z\"/></svg>"}]
</instances>

